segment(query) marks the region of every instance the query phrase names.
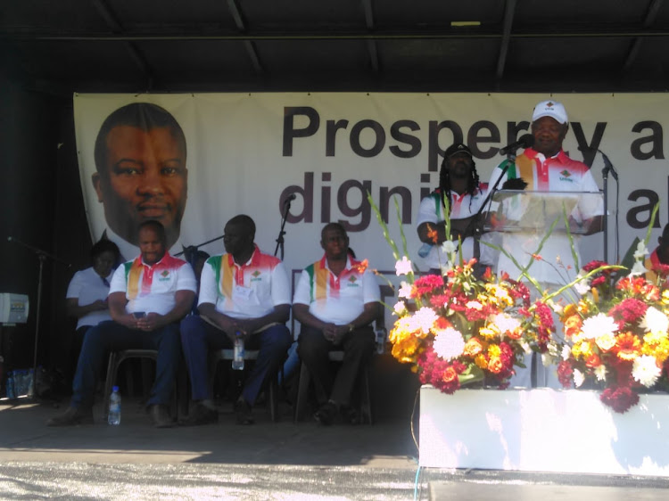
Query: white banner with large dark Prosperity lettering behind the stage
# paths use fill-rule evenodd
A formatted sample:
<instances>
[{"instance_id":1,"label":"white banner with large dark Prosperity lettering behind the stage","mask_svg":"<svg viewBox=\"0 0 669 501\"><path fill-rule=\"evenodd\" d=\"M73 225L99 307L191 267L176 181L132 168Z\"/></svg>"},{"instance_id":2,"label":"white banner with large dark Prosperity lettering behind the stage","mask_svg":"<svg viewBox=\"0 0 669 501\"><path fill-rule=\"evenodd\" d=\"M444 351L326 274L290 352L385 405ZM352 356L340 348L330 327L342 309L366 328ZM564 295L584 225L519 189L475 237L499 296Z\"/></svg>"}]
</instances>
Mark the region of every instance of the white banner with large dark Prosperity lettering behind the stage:
<instances>
[{"instance_id":1,"label":"white banner with large dark Prosperity lettering behind the stage","mask_svg":"<svg viewBox=\"0 0 669 501\"><path fill-rule=\"evenodd\" d=\"M321 228L341 221L359 259L392 270L392 253L366 200L369 191L401 246L398 202L409 256L425 269L417 257L417 209L421 197L439 184L442 152L465 142L481 181L487 182L503 160L500 148L529 130L534 104L546 99L565 104L570 121L565 150L591 165L599 187L604 161L597 150L606 153L619 174L618 183L611 175L607 183L608 260L615 261L616 245L622 259L633 238L645 235L657 201L659 223L667 223L669 94L75 94L79 169L91 233L97 240L107 230L126 259L138 253L112 231L109 219L113 210L120 211L118 205L107 207L105 219L111 194L96 191L92 182L95 139L112 111L128 103L154 103L171 113L186 137L187 183L184 173L174 195L186 206L172 253L222 235L229 218L247 214L255 220L260 249L273 254L289 201L287 267L301 269L319 259ZM164 175L177 171L166 165ZM136 173L125 168L119 180ZM127 195L128 210L140 210L146 218L166 209L147 202L150 195L139 193L136 185L113 189L133 192L118 196ZM138 201L131 200L133 195ZM170 204L178 201L163 203ZM654 229L650 250L660 233L661 227ZM581 245L584 260L602 259L602 234L585 237ZM223 252L223 242L202 250Z\"/></svg>"}]
</instances>

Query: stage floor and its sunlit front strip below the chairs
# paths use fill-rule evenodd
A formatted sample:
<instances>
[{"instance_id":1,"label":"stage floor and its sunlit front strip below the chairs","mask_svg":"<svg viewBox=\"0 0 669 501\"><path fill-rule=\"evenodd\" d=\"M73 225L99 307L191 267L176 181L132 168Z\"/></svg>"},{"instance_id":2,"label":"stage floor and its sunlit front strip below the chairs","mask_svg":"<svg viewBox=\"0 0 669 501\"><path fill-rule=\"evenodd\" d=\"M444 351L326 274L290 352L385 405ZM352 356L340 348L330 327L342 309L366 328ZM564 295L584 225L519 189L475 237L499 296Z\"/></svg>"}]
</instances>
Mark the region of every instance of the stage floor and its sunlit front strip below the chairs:
<instances>
[{"instance_id":1,"label":"stage floor and its sunlit front strip below the chairs","mask_svg":"<svg viewBox=\"0 0 669 501\"><path fill-rule=\"evenodd\" d=\"M318 427L285 419L154 429L124 401L119 427L48 428L53 404L0 401L2 499L669 498L669 481L605 475L418 470L409 420ZM96 416L101 415L96 409Z\"/></svg>"}]
</instances>

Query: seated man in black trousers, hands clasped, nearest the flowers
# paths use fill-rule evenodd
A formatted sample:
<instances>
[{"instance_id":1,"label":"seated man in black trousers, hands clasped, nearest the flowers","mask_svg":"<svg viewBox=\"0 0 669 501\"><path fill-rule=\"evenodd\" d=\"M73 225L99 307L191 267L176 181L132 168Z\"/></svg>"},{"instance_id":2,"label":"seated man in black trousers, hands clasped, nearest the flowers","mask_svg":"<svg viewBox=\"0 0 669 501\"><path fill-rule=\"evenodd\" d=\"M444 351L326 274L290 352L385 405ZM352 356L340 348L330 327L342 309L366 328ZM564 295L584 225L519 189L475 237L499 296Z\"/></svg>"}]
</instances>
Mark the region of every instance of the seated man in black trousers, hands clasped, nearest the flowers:
<instances>
[{"instance_id":1,"label":"seated man in black trousers, hands clasped, nearest the flowers","mask_svg":"<svg viewBox=\"0 0 669 501\"><path fill-rule=\"evenodd\" d=\"M366 265L349 256L349 237L342 225L326 225L320 245L325 255L302 271L293 314L301 324L298 354L316 388L319 408L314 419L329 425L349 409L356 379L374 351L371 324L378 316L380 292ZM334 377L327 356L333 349L344 352Z\"/></svg>"}]
</instances>

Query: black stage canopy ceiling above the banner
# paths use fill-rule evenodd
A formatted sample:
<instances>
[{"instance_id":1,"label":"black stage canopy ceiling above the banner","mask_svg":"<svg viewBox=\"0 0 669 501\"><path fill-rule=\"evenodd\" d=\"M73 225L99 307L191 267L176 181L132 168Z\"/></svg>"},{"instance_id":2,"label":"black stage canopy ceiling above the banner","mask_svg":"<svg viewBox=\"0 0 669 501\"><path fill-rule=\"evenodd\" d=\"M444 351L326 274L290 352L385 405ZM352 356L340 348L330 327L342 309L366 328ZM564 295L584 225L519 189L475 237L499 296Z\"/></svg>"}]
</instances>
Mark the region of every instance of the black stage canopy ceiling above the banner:
<instances>
[{"instance_id":1,"label":"black stage canopy ceiling above the banner","mask_svg":"<svg viewBox=\"0 0 669 501\"><path fill-rule=\"evenodd\" d=\"M32 90L664 92L663 0L21 0Z\"/></svg>"}]
</instances>

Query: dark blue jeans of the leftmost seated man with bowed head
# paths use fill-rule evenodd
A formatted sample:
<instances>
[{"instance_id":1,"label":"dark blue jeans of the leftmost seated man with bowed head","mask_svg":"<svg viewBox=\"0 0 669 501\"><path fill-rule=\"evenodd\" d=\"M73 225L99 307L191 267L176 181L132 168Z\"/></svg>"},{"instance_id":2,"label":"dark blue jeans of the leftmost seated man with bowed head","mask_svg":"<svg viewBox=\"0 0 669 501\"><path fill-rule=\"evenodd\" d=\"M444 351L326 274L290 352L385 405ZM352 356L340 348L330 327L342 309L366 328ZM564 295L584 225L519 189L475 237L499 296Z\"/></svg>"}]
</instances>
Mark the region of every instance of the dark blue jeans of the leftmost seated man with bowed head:
<instances>
[{"instance_id":1,"label":"dark blue jeans of the leftmost seated man with bowed head","mask_svg":"<svg viewBox=\"0 0 669 501\"><path fill-rule=\"evenodd\" d=\"M181 357L178 324L169 324L149 333L128 329L109 320L88 329L81 347L77 372L72 382L71 407L93 405L95 383L106 356L121 349L157 349L156 377L147 405L169 405Z\"/></svg>"}]
</instances>

